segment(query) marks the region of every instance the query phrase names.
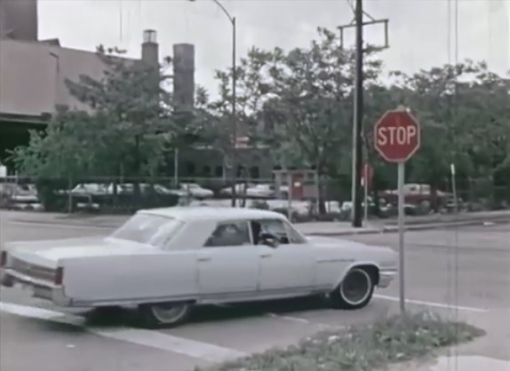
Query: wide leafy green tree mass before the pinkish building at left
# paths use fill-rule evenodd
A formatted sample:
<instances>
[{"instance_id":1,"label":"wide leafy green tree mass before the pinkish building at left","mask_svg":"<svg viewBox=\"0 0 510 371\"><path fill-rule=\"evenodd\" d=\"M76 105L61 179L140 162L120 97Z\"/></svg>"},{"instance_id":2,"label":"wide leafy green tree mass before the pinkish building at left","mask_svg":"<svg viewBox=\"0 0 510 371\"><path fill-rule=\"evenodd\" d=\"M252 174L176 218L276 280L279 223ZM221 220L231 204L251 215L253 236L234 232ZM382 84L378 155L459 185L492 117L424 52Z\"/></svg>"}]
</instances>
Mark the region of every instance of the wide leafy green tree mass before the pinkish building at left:
<instances>
[{"instance_id":1,"label":"wide leafy green tree mass before the pinkish building at left","mask_svg":"<svg viewBox=\"0 0 510 371\"><path fill-rule=\"evenodd\" d=\"M124 59L122 51L98 48L105 65L100 79L81 75L67 81L69 92L87 107L60 109L46 130L31 132L29 145L13 160L36 178L131 177L155 175L168 142L179 135L171 95L161 85L167 78L142 61ZM116 189L116 187L114 187Z\"/></svg>"}]
</instances>

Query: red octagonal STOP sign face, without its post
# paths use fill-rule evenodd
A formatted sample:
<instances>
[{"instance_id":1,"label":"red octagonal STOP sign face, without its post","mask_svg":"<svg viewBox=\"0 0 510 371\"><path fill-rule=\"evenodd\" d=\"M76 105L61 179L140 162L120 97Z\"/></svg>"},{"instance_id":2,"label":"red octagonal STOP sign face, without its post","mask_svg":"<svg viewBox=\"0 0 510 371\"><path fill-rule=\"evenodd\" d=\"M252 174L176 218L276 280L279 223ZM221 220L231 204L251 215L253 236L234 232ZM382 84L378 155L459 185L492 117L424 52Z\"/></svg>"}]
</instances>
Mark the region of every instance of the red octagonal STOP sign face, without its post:
<instances>
[{"instance_id":1,"label":"red octagonal STOP sign face, without its post","mask_svg":"<svg viewBox=\"0 0 510 371\"><path fill-rule=\"evenodd\" d=\"M387 111L374 128L377 151L387 162L406 162L420 144L418 121L407 111Z\"/></svg>"}]
</instances>

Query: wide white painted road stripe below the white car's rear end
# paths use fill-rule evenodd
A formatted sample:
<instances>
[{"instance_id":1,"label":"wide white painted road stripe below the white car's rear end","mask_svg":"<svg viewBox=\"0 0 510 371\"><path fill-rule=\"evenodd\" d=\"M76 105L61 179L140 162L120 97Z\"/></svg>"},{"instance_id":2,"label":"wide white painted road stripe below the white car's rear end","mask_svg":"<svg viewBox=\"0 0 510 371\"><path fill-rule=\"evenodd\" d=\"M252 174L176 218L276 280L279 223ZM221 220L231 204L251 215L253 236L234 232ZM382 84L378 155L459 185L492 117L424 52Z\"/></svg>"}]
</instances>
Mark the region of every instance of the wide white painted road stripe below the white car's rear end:
<instances>
[{"instance_id":1,"label":"wide white painted road stripe below the white car's rear end","mask_svg":"<svg viewBox=\"0 0 510 371\"><path fill-rule=\"evenodd\" d=\"M158 331L150 331L139 328L94 328L85 327L84 318L73 314L50 311L28 305L0 302L0 312L15 314L36 320L49 320L56 323L72 325L84 328L85 331L94 335L100 335L110 339L135 343L162 351L172 351L195 359L204 359L211 362L223 362L226 360L239 359L248 354L243 351L224 348L211 343L202 343L189 340L184 337L166 335Z\"/></svg>"}]
</instances>

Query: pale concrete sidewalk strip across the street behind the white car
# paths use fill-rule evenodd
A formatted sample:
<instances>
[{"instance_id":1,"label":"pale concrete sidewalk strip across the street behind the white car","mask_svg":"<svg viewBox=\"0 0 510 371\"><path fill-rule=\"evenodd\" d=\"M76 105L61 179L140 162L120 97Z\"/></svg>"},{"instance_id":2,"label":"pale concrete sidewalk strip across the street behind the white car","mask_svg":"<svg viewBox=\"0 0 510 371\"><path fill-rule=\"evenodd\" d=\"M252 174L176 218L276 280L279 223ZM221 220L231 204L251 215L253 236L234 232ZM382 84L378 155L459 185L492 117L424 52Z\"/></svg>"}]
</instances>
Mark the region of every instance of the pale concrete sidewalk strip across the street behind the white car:
<instances>
[{"instance_id":1,"label":"pale concrete sidewalk strip across the street behind the white car","mask_svg":"<svg viewBox=\"0 0 510 371\"><path fill-rule=\"evenodd\" d=\"M103 216L90 214L60 214L36 211L2 211L1 219L18 223L36 223L51 225L78 225L99 228L116 228L130 216ZM406 230L426 230L461 225L482 225L510 221L510 210L466 213L458 216L432 215L425 217L406 217ZM394 233L398 230L394 219L371 221L370 225L355 228L348 222L309 222L299 223L296 227L301 233L320 236L341 236L365 233Z\"/></svg>"}]
</instances>

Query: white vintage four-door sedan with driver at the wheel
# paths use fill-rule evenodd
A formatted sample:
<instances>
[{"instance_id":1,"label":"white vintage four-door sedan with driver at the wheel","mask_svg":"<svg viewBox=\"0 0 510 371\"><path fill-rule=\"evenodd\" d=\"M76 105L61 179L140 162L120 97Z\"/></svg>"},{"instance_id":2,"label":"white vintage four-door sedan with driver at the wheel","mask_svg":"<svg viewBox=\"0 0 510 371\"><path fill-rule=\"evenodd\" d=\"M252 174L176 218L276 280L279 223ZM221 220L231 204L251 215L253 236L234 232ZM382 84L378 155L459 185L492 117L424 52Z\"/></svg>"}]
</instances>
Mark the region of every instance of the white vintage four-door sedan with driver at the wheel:
<instances>
[{"instance_id":1,"label":"white vintage four-door sedan with driver at the wheel","mask_svg":"<svg viewBox=\"0 0 510 371\"><path fill-rule=\"evenodd\" d=\"M7 243L2 284L71 307L137 305L149 327L195 304L325 295L362 308L397 273L393 250L307 238L258 209L141 210L108 237Z\"/></svg>"}]
</instances>

